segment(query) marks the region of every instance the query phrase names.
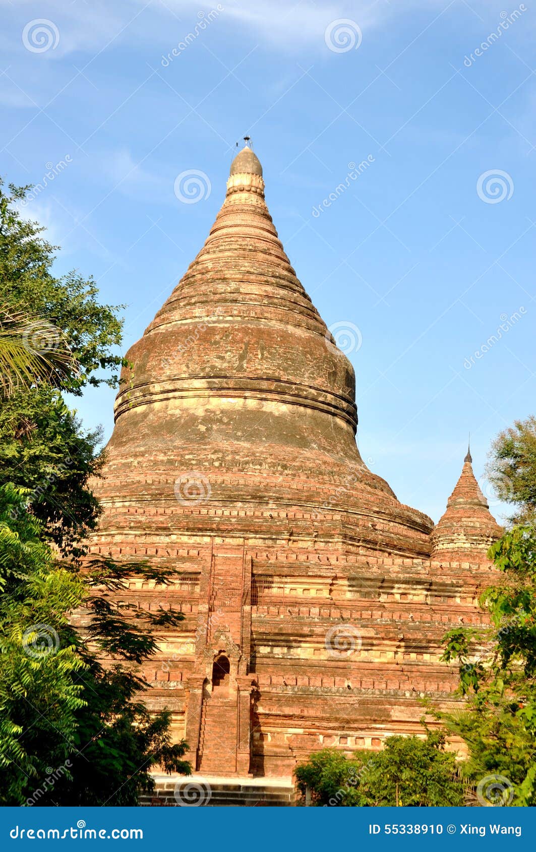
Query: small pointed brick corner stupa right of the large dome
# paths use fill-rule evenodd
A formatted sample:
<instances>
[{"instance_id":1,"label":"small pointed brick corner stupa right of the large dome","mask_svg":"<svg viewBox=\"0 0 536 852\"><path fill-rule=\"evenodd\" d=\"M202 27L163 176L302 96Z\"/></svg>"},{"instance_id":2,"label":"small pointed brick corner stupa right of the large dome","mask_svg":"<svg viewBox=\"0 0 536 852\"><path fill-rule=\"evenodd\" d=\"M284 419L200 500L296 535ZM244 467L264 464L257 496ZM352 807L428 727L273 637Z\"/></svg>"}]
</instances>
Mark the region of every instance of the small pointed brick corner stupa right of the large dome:
<instances>
[{"instance_id":1,"label":"small pointed brick corner stupa right of the large dome","mask_svg":"<svg viewBox=\"0 0 536 852\"><path fill-rule=\"evenodd\" d=\"M432 534L432 560L487 561L487 550L502 535L473 473L470 447L447 510Z\"/></svg>"}]
</instances>

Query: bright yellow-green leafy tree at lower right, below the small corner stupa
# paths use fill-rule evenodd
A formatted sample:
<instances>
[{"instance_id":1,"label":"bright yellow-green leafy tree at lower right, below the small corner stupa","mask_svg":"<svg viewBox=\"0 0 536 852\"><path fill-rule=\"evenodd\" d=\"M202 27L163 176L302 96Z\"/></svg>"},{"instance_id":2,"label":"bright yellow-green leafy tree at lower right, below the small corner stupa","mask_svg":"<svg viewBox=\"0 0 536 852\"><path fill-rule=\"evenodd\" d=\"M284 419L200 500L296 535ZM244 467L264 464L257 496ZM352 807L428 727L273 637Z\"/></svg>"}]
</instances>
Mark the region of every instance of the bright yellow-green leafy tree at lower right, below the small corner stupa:
<instances>
[{"instance_id":1,"label":"bright yellow-green leafy tree at lower right, below the small corner stupa","mask_svg":"<svg viewBox=\"0 0 536 852\"><path fill-rule=\"evenodd\" d=\"M467 774L481 803L536 804L536 535L513 527L489 552L504 582L490 586L481 607L489 627L457 628L445 636L447 662L457 660L457 715L439 714L469 750ZM491 795L485 781L490 782Z\"/></svg>"}]
</instances>

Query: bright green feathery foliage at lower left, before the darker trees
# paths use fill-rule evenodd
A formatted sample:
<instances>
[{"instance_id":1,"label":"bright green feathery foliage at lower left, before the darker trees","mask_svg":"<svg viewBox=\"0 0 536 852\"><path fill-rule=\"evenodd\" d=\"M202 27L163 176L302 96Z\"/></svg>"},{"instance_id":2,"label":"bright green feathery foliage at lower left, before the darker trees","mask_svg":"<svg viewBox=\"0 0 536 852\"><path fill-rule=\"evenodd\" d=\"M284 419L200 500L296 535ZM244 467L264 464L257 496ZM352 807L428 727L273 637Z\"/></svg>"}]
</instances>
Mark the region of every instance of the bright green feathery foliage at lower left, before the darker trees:
<instances>
[{"instance_id":1,"label":"bright green feathery foliage at lower left, before the darker trees","mask_svg":"<svg viewBox=\"0 0 536 852\"><path fill-rule=\"evenodd\" d=\"M26 791L72 751L83 705L84 660L66 613L84 596L55 561L24 509L24 493L0 487L0 803Z\"/></svg>"}]
</instances>

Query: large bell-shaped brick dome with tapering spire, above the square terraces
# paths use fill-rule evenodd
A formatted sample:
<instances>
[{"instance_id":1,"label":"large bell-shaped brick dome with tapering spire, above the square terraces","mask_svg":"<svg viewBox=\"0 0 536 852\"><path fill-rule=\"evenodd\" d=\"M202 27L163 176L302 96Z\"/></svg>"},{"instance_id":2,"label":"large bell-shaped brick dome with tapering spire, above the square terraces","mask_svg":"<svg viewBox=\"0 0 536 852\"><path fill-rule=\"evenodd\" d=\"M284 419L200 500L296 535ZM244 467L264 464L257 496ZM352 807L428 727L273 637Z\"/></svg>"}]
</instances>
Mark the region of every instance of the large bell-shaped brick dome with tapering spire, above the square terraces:
<instances>
[{"instance_id":1,"label":"large bell-shaped brick dome with tapering spire, above the square terraces","mask_svg":"<svg viewBox=\"0 0 536 852\"><path fill-rule=\"evenodd\" d=\"M233 159L205 245L126 357L105 506L127 488L187 513L174 482L193 475L215 516L229 500L305 505L312 534L337 510L339 527L343 514L360 527L352 546L364 536L428 553L429 518L360 457L354 369L285 254L251 147Z\"/></svg>"}]
</instances>

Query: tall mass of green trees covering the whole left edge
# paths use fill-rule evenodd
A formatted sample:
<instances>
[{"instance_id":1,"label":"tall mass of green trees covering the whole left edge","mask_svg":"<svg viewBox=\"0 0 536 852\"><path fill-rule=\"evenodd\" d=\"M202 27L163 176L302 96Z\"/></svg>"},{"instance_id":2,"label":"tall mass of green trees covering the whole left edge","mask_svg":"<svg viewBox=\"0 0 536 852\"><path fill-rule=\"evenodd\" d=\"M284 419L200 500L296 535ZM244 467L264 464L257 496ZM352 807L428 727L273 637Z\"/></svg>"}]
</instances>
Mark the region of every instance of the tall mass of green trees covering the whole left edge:
<instances>
[{"instance_id":1,"label":"tall mass of green trees covering the whole left edge","mask_svg":"<svg viewBox=\"0 0 536 852\"><path fill-rule=\"evenodd\" d=\"M62 394L117 383L121 321L98 302L91 279L55 277L52 246L16 210L25 189L9 189L0 184L4 316L37 316L32 347L48 351L55 336L70 358L17 376L13 340L0 354L0 802L135 805L153 788L153 766L191 769L186 743L171 742L170 714L148 713L137 669L156 653L153 631L182 614L120 604L132 577L158 589L170 572L102 560L84 561L81 573L84 538L100 512L89 478L102 458L99 435L84 432ZM22 339L21 325L11 331ZM84 613L79 630L74 610ZM47 653L32 656L34 646Z\"/></svg>"}]
</instances>

